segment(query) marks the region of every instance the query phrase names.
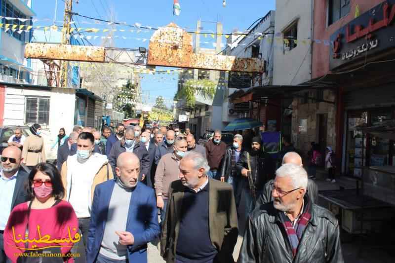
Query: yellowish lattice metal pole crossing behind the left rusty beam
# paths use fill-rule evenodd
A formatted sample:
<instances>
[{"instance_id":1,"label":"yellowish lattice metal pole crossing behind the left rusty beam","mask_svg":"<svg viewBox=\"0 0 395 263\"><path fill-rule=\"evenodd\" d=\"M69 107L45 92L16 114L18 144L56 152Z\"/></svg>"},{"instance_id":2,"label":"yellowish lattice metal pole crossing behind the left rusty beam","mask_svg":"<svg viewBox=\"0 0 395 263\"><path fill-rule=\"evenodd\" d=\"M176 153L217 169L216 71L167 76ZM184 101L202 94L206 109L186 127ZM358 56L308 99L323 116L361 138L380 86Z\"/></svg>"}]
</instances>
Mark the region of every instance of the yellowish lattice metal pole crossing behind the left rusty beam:
<instances>
[{"instance_id":1,"label":"yellowish lattice metal pole crossing behind the left rusty beam","mask_svg":"<svg viewBox=\"0 0 395 263\"><path fill-rule=\"evenodd\" d=\"M73 0L65 0L65 14L63 19L63 35L62 35L62 44L69 45L70 44L70 31L71 31L71 20L72 20L72 4ZM68 81L68 68L69 62L64 60L62 61L62 68L61 68L61 81L60 85L64 88L67 88L67 81Z\"/></svg>"}]
</instances>

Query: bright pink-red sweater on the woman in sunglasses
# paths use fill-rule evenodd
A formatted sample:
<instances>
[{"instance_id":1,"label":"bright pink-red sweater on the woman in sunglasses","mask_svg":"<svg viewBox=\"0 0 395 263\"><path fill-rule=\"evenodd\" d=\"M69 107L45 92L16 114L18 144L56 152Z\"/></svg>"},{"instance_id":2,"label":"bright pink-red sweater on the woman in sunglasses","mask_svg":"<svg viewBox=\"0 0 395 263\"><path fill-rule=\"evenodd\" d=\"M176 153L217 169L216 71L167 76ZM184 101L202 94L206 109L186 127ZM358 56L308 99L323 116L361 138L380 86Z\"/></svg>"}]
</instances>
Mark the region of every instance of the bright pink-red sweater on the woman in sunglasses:
<instances>
[{"instance_id":1,"label":"bright pink-red sweater on the woman in sunglasses","mask_svg":"<svg viewBox=\"0 0 395 263\"><path fill-rule=\"evenodd\" d=\"M12 210L4 229L4 251L12 262L17 261L18 253L23 253L25 251L25 243L18 243L15 242L15 240L19 241L25 239L27 211L28 202L17 205ZM70 228L71 238L75 239L75 234L78 232L78 219L70 203L62 200L57 205L50 208L31 210L29 218L29 240L40 239L38 226L40 227L41 238L43 238L44 235L49 235L49 240L69 239ZM15 238L12 227L14 227ZM37 248L61 245L62 247L60 250L65 256L70 252L73 246L72 242L29 242L28 244L29 248L32 248L33 245L36 245ZM31 252L35 251L31 250ZM74 260L70 258L66 262L71 263L74 262Z\"/></svg>"}]
</instances>

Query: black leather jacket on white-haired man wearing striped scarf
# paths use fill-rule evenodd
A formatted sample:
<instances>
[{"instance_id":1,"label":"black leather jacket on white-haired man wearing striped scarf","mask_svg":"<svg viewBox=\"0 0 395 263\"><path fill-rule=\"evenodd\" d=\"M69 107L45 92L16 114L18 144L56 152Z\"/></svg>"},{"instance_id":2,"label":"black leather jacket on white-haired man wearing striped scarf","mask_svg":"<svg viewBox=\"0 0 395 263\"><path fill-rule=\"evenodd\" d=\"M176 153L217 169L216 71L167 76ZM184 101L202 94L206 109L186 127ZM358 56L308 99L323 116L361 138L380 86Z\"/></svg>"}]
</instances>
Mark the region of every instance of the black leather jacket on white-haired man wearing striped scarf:
<instances>
[{"instance_id":1,"label":"black leather jacket on white-haired man wearing striped scarf","mask_svg":"<svg viewBox=\"0 0 395 263\"><path fill-rule=\"evenodd\" d=\"M312 216L293 259L273 202L255 209L248 218L237 263L343 263L339 224L328 210L313 204Z\"/></svg>"}]
</instances>

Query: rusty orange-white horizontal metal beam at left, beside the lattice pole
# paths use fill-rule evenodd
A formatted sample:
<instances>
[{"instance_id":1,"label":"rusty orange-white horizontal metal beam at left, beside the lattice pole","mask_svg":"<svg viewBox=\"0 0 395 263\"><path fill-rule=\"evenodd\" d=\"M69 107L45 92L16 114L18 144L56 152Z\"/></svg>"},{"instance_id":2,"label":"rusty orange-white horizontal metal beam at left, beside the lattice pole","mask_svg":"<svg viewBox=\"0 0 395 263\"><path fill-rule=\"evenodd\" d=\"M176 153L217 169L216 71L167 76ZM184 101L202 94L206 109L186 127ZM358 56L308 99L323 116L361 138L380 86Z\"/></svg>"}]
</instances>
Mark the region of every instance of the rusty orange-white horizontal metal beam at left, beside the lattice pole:
<instances>
[{"instance_id":1,"label":"rusty orange-white horizontal metal beam at left, beside the lattice pole","mask_svg":"<svg viewBox=\"0 0 395 263\"><path fill-rule=\"evenodd\" d=\"M27 43L25 58L104 62L105 49L99 46Z\"/></svg>"}]
</instances>

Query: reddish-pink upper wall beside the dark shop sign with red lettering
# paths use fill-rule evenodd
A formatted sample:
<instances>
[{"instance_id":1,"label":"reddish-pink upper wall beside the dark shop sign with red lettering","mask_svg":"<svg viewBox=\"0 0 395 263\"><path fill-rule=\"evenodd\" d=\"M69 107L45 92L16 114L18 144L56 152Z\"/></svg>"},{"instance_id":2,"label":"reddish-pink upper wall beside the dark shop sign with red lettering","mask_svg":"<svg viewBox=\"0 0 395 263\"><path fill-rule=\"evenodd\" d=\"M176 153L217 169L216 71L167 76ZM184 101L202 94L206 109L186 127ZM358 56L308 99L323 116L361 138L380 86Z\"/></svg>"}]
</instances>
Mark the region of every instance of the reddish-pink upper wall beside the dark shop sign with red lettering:
<instances>
[{"instance_id":1,"label":"reddish-pink upper wall beside the dark shop sign with red lettering","mask_svg":"<svg viewBox=\"0 0 395 263\"><path fill-rule=\"evenodd\" d=\"M355 17L356 5L362 14L385 0L352 0L348 15L328 26L328 0L314 1L314 39L329 39L339 28L343 27ZM330 46L313 44L313 78L325 75L329 71Z\"/></svg>"}]
</instances>

